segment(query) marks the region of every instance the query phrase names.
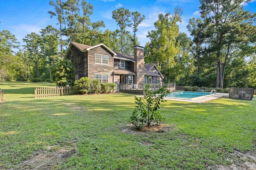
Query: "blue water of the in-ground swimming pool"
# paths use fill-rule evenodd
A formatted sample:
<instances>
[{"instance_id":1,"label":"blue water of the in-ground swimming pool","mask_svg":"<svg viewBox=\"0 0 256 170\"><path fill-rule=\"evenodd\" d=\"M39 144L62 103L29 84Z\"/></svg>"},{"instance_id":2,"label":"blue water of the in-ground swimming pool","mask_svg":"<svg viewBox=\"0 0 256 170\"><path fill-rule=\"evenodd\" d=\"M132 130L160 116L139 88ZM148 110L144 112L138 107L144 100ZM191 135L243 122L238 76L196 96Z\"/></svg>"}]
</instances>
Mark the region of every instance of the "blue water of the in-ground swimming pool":
<instances>
[{"instance_id":1,"label":"blue water of the in-ground swimming pool","mask_svg":"<svg viewBox=\"0 0 256 170\"><path fill-rule=\"evenodd\" d=\"M166 98L183 98L183 99L192 99L200 96L206 96L210 93L208 92L174 92L168 94Z\"/></svg>"}]
</instances>

